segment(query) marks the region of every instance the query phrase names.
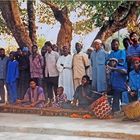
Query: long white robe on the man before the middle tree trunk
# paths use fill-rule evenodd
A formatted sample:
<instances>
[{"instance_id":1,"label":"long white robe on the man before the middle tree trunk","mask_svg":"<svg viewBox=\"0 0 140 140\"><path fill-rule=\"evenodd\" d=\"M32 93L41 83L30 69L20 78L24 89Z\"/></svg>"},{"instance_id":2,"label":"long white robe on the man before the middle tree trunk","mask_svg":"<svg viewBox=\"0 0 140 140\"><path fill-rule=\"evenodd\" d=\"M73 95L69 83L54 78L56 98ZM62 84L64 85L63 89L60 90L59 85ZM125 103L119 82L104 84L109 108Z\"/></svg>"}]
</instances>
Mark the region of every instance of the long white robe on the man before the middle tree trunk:
<instances>
[{"instance_id":1,"label":"long white robe on the man before the middle tree trunk","mask_svg":"<svg viewBox=\"0 0 140 140\"><path fill-rule=\"evenodd\" d=\"M56 64L59 71L58 86L64 88L64 93L67 95L68 100L72 100L74 95L72 59L72 55L62 55L59 57ZM63 64L63 66L61 64Z\"/></svg>"}]
</instances>

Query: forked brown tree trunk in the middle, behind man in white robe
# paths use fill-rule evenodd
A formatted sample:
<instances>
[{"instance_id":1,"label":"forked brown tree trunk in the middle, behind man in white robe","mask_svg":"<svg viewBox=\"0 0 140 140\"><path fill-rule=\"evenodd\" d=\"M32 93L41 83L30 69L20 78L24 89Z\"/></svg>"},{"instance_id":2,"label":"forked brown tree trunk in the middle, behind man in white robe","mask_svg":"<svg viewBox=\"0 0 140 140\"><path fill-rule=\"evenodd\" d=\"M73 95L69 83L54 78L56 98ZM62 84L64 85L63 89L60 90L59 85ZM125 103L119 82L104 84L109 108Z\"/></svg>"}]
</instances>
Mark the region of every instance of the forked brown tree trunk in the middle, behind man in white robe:
<instances>
[{"instance_id":1,"label":"forked brown tree trunk in the middle, behind man in white robe","mask_svg":"<svg viewBox=\"0 0 140 140\"><path fill-rule=\"evenodd\" d=\"M68 17L67 7L63 7L61 10L54 4L48 2L47 0L41 0L43 3L50 6L54 13L54 17L57 21L60 22L61 27L57 37L57 45L59 48L63 46L71 47L72 40L72 23Z\"/></svg>"}]
</instances>

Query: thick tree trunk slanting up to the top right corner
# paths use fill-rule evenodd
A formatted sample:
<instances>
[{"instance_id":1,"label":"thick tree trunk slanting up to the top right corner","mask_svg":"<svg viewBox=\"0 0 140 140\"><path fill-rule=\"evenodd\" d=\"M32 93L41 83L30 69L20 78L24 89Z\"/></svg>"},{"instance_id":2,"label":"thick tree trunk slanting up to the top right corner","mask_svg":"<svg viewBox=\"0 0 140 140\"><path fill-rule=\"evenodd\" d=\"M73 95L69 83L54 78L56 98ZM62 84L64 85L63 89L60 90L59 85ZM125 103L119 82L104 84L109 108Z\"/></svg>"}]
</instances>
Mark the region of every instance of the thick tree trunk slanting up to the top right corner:
<instances>
[{"instance_id":1,"label":"thick tree trunk slanting up to the top right corner","mask_svg":"<svg viewBox=\"0 0 140 140\"><path fill-rule=\"evenodd\" d=\"M104 22L95 39L101 39L103 42L105 42L106 39L113 35L113 33L125 28L128 22L132 20L136 21L138 18L138 6L139 2L127 1L122 3L112 14L112 16L109 17L109 20Z\"/></svg>"}]
</instances>

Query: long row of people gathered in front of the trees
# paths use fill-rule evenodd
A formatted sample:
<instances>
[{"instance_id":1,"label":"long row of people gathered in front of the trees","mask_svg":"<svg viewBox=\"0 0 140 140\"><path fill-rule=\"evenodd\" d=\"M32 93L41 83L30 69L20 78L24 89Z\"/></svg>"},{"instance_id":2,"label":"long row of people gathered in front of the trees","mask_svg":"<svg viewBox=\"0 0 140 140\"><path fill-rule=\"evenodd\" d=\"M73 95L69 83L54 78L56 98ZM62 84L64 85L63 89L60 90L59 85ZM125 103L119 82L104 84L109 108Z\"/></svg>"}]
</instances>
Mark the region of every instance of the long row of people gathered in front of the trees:
<instances>
[{"instance_id":1,"label":"long row of people gathered in front of the trees","mask_svg":"<svg viewBox=\"0 0 140 140\"><path fill-rule=\"evenodd\" d=\"M36 98L40 101L48 101L49 105L57 97L58 87L62 87L68 102L75 103L75 100L79 100L79 104L88 102L88 105L94 101L93 91L111 92L113 112L119 111L120 99L122 103L127 104L138 100L140 96L140 44L137 34L131 33L130 38L123 40L123 44L125 49L120 50L119 40L113 39L112 50L108 53L102 41L96 39L93 46L84 53L82 44L76 43L74 55L71 55L68 46L64 46L59 52L50 41L45 42L41 54L38 52L37 45L32 46L32 52L24 47L16 53L10 52L9 57L1 48L0 89L2 90L0 95L2 101L4 101L5 84L9 103L17 103L17 99L25 101L26 97L31 99L34 92L31 92L31 97L27 94L30 92L28 87L31 78L31 87L35 82L43 88L39 91L41 96ZM87 81L86 84L84 78ZM131 90L128 91L128 87ZM35 92L38 90L36 89ZM18 100L19 102L21 100Z\"/></svg>"}]
</instances>

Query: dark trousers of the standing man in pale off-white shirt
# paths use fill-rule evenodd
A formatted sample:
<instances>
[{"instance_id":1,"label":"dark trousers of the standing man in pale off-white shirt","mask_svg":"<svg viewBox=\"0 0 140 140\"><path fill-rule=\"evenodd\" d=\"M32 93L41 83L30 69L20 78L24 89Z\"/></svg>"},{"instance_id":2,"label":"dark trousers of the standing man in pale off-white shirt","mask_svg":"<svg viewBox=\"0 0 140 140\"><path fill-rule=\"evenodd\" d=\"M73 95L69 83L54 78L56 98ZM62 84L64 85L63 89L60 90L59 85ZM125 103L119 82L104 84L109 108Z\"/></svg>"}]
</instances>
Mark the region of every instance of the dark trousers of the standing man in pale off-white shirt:
<instances>
[{"instance_id":1,"label":"dark trousers of the standing man in pale off-white shirt","mask_svg":"<svg viewBox=\"0 0 140 140\"><path fill-rule=\"evenodd\" d=\"M58 87L58 76L57 77L47 77L46 83L47 83L48 98L53 99L53 91L56 95L56 91L57 91L57 87Z\"/></svg>"}]
</instances>

